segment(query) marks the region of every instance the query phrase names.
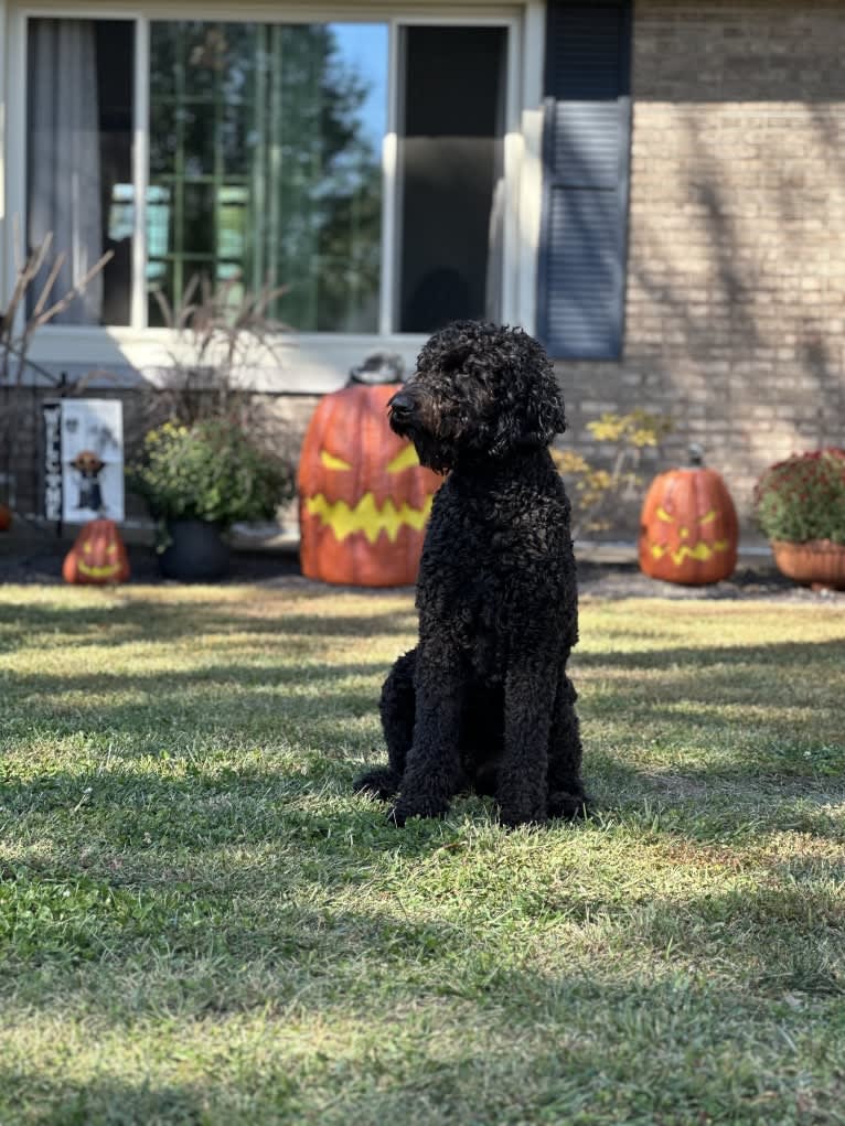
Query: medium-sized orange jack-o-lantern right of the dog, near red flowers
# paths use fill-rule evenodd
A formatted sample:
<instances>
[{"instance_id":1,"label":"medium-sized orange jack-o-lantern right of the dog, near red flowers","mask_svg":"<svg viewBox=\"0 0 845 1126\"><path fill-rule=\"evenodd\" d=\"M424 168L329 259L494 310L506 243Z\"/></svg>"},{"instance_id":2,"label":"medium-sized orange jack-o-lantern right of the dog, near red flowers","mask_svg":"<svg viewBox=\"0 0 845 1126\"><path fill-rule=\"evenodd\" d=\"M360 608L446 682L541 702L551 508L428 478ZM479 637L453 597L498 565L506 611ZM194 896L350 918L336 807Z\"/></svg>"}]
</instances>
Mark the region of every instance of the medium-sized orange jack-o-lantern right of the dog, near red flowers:
<instances>
[{"instance_id":1,"label":"medium-sized orange jack-o-lantern right of the dog, near red flowers","mask_svg":"<svg viewBox=\"0 0 845 1126\"><path fill-rule=\"evenodd\" d=\"M640 517L640 569L685 586L719 582L737 565L739 525L715 470L669 470L652 481Z\"/></svg>"}]
</instances>

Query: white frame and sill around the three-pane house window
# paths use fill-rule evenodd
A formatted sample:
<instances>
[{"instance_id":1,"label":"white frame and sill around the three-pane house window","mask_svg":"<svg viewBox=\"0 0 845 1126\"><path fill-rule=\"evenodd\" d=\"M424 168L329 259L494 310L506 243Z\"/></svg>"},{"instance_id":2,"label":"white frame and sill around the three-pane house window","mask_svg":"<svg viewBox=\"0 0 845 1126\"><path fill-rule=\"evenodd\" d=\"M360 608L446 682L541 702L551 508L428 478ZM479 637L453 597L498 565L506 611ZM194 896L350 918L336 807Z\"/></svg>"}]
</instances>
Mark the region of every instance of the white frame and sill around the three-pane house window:
<instances>
[{"instance_id":1,"label":"white frame and sill around the three-pane house window","mask_svg":"<svg viewBox=\"0 0 845 1126\"><path fill-rule=\"evenodd\" d=\"M174 19L220 19L228 23L383 23L388 25L388 125L382 144L382 278L376 333L302 332L285 336L281 345L281 369L268 373L274 390L322 392L346 378L348 368L376 348L399 352L412 367L425 336L391 331L397 301L399 198L398 43L400 29L411 25L496 26L508 30L507 89L504 134L506 221L502 254L502 320L534 331L536 259L540 233L540 106L545 5L491 5L464 2L439 8L397 0L390 8L374 3L314 7L292 0L279 6L252 0L238 9L208 0L202 11L183 2L176 11L162 0L141 5L110 0L75 6L56 0L0 0L0 298L11 292L15 269L15 232L11 216L26 213L26 23L33 17L78 19L128 19L135 24L135 105L133 128L133 181L135 231L133 236L132 323L128 327L47 325L36 333L30 356L36 363L83 363L104 368L137 370L167 367L172 354L172 333L143 327L146 294L145 193L149 152L150 23ZM198 7L198 6L197 6ZM5 187L5 198L3 198ZM18 224L20 225L20 224Z\"/></svg>"}]
</instances>

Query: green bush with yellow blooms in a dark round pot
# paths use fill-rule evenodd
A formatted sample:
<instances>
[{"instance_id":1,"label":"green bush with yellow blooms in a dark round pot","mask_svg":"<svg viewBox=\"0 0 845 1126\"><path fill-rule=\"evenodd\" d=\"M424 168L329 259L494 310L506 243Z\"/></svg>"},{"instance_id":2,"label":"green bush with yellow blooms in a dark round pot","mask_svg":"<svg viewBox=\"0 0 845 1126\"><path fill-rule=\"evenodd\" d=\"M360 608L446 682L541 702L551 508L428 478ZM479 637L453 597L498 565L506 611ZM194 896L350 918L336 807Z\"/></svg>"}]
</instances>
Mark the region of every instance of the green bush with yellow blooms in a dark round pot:
<instances>
[{"instance_id":1,"label":"green bush with yellow blooms in a dark round pot","mask_svg":"<svg viewBox=\"0 0 845 1126\"><path fill-rule=\"evenodd\" d=\"M291 466L225 418L151 430L128 483L155 519L162 572L187 580L225 574L226 529L270 519L294 492Z\"/></svg>"}]
</instances>

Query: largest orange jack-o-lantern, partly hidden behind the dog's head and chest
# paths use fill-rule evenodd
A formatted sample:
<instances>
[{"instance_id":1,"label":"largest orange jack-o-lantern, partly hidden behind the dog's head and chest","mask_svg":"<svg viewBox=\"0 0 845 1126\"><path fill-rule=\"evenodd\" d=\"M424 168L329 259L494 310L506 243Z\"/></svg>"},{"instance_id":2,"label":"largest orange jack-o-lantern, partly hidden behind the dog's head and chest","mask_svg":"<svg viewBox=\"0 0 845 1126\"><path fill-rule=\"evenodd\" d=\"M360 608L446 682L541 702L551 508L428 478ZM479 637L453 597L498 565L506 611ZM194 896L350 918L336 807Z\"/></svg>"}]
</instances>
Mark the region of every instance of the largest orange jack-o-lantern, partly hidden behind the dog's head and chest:
<instances>
[{"instance_id":1,"label":"largest orange jack-o-lantern, partly hidden behind the dog's head and chest","mask_svg":"<svg viewBox=\"0 0 845 1126\"><path fill-rule=\"evenodd\" d=\"M353 384L317 408L300 458L302 573L323 582L416 582L441 477L388 425L398 384Z\"/></svg>"}]
</instances>

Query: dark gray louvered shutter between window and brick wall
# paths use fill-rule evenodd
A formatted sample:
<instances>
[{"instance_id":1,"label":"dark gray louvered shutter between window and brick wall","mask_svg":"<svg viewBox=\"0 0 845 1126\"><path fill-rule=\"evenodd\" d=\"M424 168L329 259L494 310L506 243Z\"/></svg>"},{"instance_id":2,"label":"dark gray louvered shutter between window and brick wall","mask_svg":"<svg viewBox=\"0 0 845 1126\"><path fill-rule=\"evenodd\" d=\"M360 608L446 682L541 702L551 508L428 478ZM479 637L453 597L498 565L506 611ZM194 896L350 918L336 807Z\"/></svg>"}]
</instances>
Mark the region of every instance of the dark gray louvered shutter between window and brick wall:
<instances>
[{"instance_id":1,"label":"dark gray louvered shutter between window and brick wall","mask_svg":"<svg viewBox=\"0 0 845 1126\"><path fill-rule=\"evenodd\" d=\"M550 0L537 332L560 359L622 352L631 3Z\"/></svg>"}]
</instances>

